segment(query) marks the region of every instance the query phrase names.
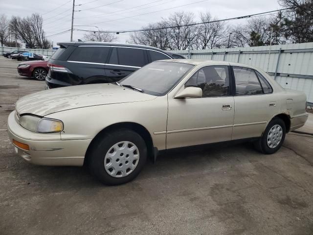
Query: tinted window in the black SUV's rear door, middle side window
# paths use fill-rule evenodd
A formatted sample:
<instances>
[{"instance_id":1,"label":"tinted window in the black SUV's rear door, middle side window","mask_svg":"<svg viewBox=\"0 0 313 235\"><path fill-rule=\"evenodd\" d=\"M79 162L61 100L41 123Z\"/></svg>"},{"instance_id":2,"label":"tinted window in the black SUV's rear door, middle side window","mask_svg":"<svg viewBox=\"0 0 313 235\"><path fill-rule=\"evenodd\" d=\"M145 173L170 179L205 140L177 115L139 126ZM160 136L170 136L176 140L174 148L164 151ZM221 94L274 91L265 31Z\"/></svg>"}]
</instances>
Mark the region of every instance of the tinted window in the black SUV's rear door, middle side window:
<instances>
[{"instance_id":1,"label":"tinted window in the black SUV's rear door, middle side window","mask_svg":"<svg viewBox=\"0 0 313 235\"><path fill-rule=\"evenodd\" d=\"M146 51L126 47L117 47L119 65L142 67L145 63Z\"/></svg>"}]
</instances>

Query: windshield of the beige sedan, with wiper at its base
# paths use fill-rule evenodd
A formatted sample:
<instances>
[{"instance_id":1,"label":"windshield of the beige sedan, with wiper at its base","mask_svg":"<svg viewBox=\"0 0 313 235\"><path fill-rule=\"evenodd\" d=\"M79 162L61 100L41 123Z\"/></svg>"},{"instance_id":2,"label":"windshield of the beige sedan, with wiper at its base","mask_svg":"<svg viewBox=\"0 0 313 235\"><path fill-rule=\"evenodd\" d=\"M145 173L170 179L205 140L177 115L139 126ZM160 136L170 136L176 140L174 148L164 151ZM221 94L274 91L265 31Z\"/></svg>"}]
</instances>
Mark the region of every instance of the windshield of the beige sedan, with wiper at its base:
<instances>
[{"instance_id":1,"label":"windshield of the beige sedan, with wiper at its base","mask_svg":"<svg viewBox=\"0 0 313 235\"><path fill-rule=\"evenodd\" d=\"M170 91L194 66L174 62L153 62L119 83L139 88L143 93L161 96Z\"/></svg>"}]
</instances>

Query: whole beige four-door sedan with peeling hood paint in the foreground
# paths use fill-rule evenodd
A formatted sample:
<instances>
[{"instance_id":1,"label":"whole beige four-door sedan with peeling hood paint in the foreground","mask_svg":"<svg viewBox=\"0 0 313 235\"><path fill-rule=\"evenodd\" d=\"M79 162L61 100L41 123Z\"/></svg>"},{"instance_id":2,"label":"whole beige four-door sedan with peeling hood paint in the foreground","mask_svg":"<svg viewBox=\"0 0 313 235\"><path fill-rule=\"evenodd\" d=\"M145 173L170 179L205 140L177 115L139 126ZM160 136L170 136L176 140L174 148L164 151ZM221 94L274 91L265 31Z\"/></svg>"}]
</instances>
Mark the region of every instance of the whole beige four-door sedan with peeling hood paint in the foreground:
<instances>
[{"instance_id":1,"label":"whole beige four-door sedan with peeling hood paint in the foreground","mask_svg":"<svg viewBox=\"0 0 313 235\"><path fill-rule=\"evenodd\" d=\"M134 179L161 150L244 139L274 153L307 118L306 95L263 71L178 59L153 62L118 83L24 96L8 134L30 163L88 164L100 181L116 185Z\"/></svg>"}]
</instances>

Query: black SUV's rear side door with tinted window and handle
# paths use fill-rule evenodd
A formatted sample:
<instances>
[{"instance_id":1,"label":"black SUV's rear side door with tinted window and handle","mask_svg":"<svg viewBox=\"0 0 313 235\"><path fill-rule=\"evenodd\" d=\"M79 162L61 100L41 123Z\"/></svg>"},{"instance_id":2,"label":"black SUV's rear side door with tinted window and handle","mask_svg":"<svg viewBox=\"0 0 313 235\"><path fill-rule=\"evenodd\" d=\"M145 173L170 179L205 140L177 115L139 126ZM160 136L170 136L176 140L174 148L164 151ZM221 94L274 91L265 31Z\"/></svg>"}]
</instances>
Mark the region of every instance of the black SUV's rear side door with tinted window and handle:
<instances>
[{"instance_id":1,"label":"black SUV's rear side door with tinted window and handle","mask_svg":"<svg viewBox=\"0 0 313 235\"><path fill-rule=\"evenodd\" d=\"M145 49L136 47L112 47L110 58L105 65L106 76L119 81L148 64Z\"/></svg>"}]
</instances>

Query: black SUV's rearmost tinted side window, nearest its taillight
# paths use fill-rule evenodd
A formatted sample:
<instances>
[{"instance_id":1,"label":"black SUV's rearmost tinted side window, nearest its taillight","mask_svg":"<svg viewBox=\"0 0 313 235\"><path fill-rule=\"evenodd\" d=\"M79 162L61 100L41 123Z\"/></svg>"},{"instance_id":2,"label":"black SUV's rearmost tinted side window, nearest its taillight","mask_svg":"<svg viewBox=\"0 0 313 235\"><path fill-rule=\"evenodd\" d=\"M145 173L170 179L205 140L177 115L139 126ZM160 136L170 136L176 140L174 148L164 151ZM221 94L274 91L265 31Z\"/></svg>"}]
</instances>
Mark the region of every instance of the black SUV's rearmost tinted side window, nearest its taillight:
<instances>
[{"instance_id":1,"label":"black SUV's rearmost tinted side window, nearest its taillight","mask_svg":"<svg viewBox=\"0 0 313 235\"><path fill-rule=\"evenodd\" d=\"M77 47L69 56L68 60L105 63L109 54L109 50L110 47Z\"/></svg>"}]
</instances>

